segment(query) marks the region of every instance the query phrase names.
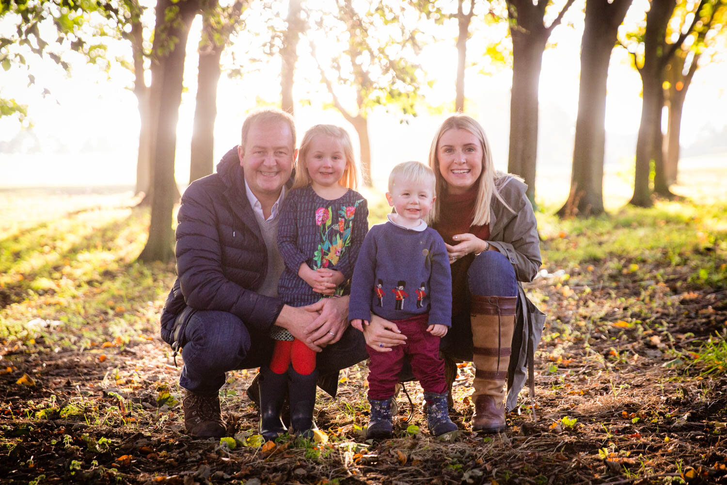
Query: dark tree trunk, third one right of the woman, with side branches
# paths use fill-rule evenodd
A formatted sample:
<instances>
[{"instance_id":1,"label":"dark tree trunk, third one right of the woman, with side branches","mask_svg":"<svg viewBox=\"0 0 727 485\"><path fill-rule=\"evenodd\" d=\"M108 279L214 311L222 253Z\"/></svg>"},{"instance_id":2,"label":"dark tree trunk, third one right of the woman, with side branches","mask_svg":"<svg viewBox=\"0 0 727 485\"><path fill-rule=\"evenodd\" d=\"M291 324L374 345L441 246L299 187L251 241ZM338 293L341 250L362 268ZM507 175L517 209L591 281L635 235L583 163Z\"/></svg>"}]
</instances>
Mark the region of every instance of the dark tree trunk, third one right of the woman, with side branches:
<instances>
[{"instance_id":1,"label":"dark tree trunk, third one right of the woman, with side branches","mask_svg":"<svg viewBox=\"0 0 727 485\"><path fill-rule=\"evenodd\" d=\"M630 204L650 207L651 188L649 175L651 161L656 162L656 152L662 152L662 145L655 146L656 130L662 130L662 71L664 69L664 36L669 19L674 12L676 0L652 1L646 13L646 32L644 34L643 67L639 69L643 84L641 121L636 140L636 162L634 174L634 193Z\"/></svg>"}]
</instances>

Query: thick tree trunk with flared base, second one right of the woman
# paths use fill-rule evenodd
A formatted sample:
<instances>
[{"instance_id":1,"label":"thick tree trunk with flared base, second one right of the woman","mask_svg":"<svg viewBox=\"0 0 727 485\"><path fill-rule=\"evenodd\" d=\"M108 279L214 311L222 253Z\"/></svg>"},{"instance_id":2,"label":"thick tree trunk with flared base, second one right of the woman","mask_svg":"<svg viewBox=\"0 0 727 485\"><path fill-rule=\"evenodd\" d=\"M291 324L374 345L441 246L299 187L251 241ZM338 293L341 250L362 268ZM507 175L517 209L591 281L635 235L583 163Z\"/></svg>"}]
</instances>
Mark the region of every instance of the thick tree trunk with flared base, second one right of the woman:
<instances>
[{"instance_id":1,"label":"thick tree trunk with flared base, second one right of the woman","mask_svg":"<svg viewBox=\"0 0 727 485\"><path fill-rule=\"evenodd\" d=\"M571 191L558 215L603 213L603 153L606 143L606 80L616 33L632 0L587 0L581 43L578 118Z\"/></svg>"}]
</instances>

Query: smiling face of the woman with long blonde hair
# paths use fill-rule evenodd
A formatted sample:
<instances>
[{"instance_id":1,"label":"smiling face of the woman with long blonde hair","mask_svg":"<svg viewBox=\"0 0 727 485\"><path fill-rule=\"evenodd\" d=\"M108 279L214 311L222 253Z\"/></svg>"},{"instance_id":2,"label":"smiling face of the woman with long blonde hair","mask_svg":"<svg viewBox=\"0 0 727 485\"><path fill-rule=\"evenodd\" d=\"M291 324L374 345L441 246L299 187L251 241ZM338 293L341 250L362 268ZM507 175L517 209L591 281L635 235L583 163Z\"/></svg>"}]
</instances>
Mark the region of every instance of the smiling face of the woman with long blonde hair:
<instances>
[{"instance_id":1,"label":"smiling face of the woman with long blonde hair","mask_svg":"<svg viewBox=\"0 0 727 485\"><path fill-rule=\"evenodd\" d=\"M466 129L448 129L437 145L439 172L451 194L464 193L482 173L482 143Z\"/></svg>"}]
</instances>

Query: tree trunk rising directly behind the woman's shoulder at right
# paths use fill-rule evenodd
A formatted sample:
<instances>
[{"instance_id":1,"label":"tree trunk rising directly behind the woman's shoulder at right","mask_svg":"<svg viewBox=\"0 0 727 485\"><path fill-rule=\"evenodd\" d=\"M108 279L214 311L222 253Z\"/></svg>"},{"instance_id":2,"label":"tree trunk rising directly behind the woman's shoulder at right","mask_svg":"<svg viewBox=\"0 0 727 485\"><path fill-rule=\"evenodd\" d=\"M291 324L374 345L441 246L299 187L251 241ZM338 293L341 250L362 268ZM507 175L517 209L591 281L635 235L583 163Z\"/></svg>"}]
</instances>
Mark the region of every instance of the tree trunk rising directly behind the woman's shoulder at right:
<instances>
[{"instance_id":1,"label":"tree trunk rising directly behind the woman's shoulder at right","mask_svg":"<svg viewBox=\"0 0 727 485\"><path fill-rule=\"evenodd\" d=\"M527 196L535 199L535 164L538 147L538 84L545 30L510 30L513 36L513 88L510 93L510 152L507 170L520 175L528 185Z\"/></svg>"}]
</instances>

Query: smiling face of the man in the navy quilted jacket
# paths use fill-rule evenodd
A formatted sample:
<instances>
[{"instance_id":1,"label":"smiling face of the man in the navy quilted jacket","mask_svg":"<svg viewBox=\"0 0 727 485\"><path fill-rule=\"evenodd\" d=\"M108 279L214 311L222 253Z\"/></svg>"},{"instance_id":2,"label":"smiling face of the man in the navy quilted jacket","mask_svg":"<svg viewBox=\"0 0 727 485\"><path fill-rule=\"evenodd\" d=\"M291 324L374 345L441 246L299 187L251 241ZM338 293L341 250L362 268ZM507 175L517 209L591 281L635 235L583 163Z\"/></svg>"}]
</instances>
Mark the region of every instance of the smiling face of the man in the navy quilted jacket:
<instances>
[{"instance_id":1,"label":"smiling face of the man in the navy quilted jacket","mask_svg":"<svg viewBox=\"0 0 727 485\"><path fill-rule=\"evenodd\" d=\"M298 151L283 121L255 123L247 132L245 148L238 147L245 180L257 199L278 198L290 178Z\"/></svg>"}]
</instances>

